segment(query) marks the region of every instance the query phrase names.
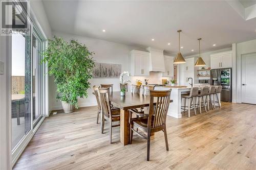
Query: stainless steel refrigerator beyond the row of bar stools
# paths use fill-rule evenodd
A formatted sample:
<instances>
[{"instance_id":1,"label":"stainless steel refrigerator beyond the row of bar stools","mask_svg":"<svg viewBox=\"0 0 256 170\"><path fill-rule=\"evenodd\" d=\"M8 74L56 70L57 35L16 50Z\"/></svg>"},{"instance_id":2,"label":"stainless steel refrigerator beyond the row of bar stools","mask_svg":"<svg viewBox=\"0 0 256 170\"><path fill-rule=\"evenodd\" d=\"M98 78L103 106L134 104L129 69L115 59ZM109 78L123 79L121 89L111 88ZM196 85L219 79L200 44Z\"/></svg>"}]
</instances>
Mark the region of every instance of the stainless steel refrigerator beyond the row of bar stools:
<instances>
[{"instance_id":1,"label":"stainless steel refrigerator beyond the row of bar stools","mask_svg":"<svg viewBox=\"0 0 256 170\"><path fill-rule=\"evenodd\" d=\"M221 101L232 102L232 69L211 69L210 70L210 84L215 86L222 86Z\"/></svg>"}]
</instances>

